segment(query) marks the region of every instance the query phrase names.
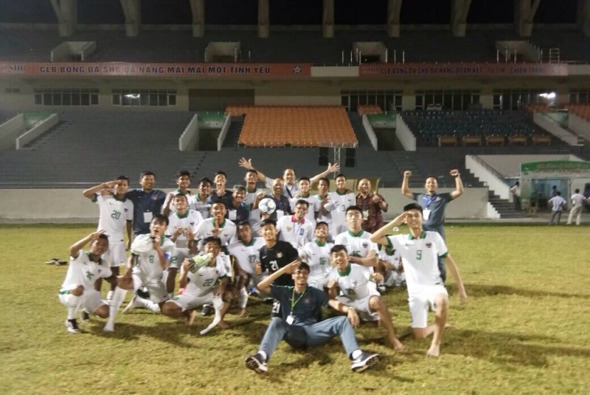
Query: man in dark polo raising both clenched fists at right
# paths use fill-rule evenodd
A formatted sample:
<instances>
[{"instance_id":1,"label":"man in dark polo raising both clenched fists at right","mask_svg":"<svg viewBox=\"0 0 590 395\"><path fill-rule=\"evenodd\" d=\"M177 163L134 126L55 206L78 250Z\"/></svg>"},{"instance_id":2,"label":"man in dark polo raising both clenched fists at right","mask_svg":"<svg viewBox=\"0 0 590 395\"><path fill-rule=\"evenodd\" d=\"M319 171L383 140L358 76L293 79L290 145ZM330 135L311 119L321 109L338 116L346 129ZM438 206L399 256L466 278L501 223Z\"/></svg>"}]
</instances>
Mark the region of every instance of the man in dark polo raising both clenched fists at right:
<instances>
[{"instance_id":1,"label":"man in dark polo raising both clenched fists at right","mask_svg":"<svg viewBox=\"0 0 590 395\"><path fill-rule=\"evenodd\" d=\"M424 183L426 193L412 193L408 187L409 178L412 177L411 171L404 171L404 180L402 182L402 195L416 200L420 207L422 207L422 218L424 220L422 227L424 227L424 230L438 232L443 240L445 240L444 209L446 203L463 195L463 181L461 181L459 171L453 169L450 174L455 178L455 190L451 193L437 193L439 183L434 177L428 177L426 179L426 183ZM442 281L445 281L446 269L442 259L439 259L439 271L441 271Z\"/></svg>"}]
</instances>

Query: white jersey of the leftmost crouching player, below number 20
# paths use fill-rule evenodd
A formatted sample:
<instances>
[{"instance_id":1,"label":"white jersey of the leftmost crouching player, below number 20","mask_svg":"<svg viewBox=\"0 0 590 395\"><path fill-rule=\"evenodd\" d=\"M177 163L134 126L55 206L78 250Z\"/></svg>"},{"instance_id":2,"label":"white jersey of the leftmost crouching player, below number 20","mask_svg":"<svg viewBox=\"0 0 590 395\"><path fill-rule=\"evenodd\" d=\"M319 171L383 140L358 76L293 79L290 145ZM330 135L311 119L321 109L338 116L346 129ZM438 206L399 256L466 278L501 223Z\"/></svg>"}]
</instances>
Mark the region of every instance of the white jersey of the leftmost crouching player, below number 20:
<instances>
[{"instance_id":1,"label":"white jersey of the leftmost crouching player, below number 20","mask_svg":"<svg viewBox=\"0 0 590 395\"><path fill-rule=\"evenodd\" d=\"M82 286L85 290L93 290L95 282L99 278L110 276L112 276L112 271L107 261L104 259L100 259L98 262L91 261L88 252L79 251L77 258L70 256L68 273L65 274L61 289L67 291L75 286Z\"/></svg>"}]
</instances>

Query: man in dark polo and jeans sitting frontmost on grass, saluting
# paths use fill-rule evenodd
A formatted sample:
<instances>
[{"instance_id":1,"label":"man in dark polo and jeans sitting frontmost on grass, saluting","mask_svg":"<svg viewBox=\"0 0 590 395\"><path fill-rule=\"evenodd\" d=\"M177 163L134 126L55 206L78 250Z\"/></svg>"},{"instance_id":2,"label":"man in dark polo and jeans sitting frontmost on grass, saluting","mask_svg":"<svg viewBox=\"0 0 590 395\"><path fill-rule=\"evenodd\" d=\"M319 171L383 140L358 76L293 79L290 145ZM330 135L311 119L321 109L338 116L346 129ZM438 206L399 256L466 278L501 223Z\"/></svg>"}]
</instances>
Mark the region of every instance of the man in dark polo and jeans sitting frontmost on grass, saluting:
<instances>
[{"instance_id":1,"label":"man in dark polo and jeans sitting frontmost on grass, saluting","mask_svg":"<svg viewBox=\"0 0 590 395\"><path fill-rule=\"evenodd\" d=\"M284 274L291 274L294 286L277 286L273 282ZM299 260L281 267L258 284L262 292L281 302L282 317L273 317L264 333L259 350L246 358L246 367L255 372L267 372L267 362L281 340L291 347L316 347L340 336L346 354L352 360L353 372L363 372L379 362L378 354L363 352L358 347L353 326L358 325L358 315L335 299L329 299L325 292L307 286L309 266ZM323 305L348 313L318 322L318 310Z\"/></svg>"}]
</instances>

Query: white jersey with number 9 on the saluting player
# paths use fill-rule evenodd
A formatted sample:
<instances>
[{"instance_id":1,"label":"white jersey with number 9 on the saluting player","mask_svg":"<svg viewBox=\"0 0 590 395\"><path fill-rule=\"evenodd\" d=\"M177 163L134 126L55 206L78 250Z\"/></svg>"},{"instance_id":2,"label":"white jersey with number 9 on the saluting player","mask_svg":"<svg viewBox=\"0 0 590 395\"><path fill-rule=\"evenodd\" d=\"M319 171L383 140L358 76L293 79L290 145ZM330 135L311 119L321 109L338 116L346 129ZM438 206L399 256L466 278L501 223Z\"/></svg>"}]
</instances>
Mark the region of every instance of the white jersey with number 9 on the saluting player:
<instances>
[{"instance_id":1,"label":"white jersey with number 9 on the saluting player","mask_svg":"<svg viewBox=\"0 0 590 395\"><path fill-rule=\"evenodd\" d=\"M408 293L418 292L422 286L442 284L439 256L448 254L446 244L438 232L422 232L414 239L412 234L388 236L389 247L402 256Z\"/></svg>"}]
</instances>

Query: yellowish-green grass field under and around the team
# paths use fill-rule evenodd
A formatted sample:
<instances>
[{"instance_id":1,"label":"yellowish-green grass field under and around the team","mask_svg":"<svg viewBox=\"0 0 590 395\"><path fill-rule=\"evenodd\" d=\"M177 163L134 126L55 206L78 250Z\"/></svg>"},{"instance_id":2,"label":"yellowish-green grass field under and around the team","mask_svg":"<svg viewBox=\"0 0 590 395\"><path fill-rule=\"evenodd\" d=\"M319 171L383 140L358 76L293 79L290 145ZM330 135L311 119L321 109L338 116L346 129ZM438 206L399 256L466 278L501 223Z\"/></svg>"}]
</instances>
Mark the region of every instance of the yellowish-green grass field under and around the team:
<instances>
[{"instance_id":1,"label":"yellowish-green grass field under and around the team","mask_svg":"<svg viewBox=\"0 0 590 395\"><path fill-rule=\"evenodd\" d=\"M450 321L441 357L424 357L429 340L409 337L403 291L384 300L409 347L386 347L381 328L362 325L361 347L382 354L363 374L350 372L339 340L308 352L279 345L269 373L246 369L268 323L269 305L250 299L246 318L228 315L228 330L198 331L148 310L119 313L65 331L57 292L68 247L85 225L0 227L2 279L1 394L587 394L590 388L589 227L447 227L449 251L466 283L458 305L449 281ZM403 230L403 229L402 229ZM106 288L106 286L105 286ZM127 296L129 301L130 296Z\"/></svg>"}]
</instances>

